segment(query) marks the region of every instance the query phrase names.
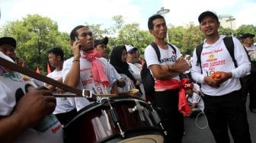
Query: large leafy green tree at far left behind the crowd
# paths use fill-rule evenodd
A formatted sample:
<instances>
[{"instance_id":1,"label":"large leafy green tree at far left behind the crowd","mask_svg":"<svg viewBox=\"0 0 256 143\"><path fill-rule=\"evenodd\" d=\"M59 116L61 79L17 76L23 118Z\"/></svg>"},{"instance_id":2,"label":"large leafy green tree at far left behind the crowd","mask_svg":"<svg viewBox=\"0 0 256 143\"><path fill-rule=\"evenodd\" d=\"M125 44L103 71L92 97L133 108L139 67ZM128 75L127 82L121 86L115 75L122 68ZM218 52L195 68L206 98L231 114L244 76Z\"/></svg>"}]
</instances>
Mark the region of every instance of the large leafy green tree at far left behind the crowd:
<instances>
[{"instance_id":1,"label":"large leafy green tree at far left behind the crowd","mask_svg":"<svg viewBox=\"0 0 256 143\"><path fill-rule=\"evenodd\" d=\"M14 37L17 40L17 54L27 62L27 65L36 69L39 65L45 73L48 61L47 51L60 46L70 56L69 36L60 33L55 21L38 14L24 17L21 21L13 21L2 28L2 37Z\"/></svg>"}]
</instances>

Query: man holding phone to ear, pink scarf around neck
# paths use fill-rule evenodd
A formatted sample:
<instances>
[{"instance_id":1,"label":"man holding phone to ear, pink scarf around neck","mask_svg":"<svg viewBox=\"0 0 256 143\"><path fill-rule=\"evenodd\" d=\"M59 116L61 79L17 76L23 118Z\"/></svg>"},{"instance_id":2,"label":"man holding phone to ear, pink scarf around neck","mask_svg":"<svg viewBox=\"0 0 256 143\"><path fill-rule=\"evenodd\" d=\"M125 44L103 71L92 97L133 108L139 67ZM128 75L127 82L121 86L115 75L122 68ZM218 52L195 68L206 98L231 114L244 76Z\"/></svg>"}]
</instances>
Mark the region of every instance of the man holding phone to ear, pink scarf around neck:
<instances>
[{"instance_id":1,"label":"man holding phone to ear, pink scarf around neck","mask_svg":"<svg viewBox=\"0 0 256 143\"><path fill-rule=\"evenodd\" d=\"M94 49L94 38L89 27L79 25L70 33L73 57L63 64L64 84L86 89L94 94L110 94L110 84L116 81L107 59ZM75 97L76 110L91 103L85 97Z\"/></svg>"}]
</instances>

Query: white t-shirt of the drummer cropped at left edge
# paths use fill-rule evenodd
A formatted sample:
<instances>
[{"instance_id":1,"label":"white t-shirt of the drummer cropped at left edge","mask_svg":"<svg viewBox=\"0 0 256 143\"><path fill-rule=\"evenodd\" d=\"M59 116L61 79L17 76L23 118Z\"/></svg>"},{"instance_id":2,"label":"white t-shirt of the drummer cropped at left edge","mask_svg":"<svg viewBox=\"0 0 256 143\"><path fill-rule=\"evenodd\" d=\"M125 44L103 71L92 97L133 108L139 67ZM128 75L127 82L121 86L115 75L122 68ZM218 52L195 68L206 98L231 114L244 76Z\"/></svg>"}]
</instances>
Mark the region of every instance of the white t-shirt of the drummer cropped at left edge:
<instances>
[{"instance_id":1,"label":"white t-shirt of the drummer cropped at left edge","mask_svg":"<svg viewBox=\"0 0 256 143\"><path fill-rule=\"evenodd\" d=\"M2 52L0 56L6 58ZM27 85L35 85L24 75L0 65L0 116L9 116L17 100L24 96ZM29 118L26 117L26 118ZM62 143L62 126L56 116L46 116L34 129L27 129L14 141L15 143Z\"/></svg>"}]
</instances>

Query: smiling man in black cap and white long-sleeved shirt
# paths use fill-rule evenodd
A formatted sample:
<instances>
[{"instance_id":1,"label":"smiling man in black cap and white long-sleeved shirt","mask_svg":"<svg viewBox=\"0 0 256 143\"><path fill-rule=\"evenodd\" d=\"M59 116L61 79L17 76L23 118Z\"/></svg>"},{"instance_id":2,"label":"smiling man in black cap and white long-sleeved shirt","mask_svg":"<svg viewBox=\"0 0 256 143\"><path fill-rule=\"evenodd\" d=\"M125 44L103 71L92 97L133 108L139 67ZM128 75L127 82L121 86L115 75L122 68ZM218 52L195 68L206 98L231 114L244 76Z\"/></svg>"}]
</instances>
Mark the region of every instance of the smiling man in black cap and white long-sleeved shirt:
<instances>
[{"instance_id":1,"label":"smiling man in black cap and white long-sleeved shirt","mask_svg":"<svg viewBox=\"0 0 256 143\"><path fill-rule=\"evenodd\" d=\"M232 37L237 68L225 46L225 36L219 35L219 19L215 12L204 11L198 17L203 32L200 63L196 49L192 62L192 78L201 84L204 113L217 143L229 143L229 130L234 142L251 142L245 105L242 102L239 78L248 74L250 62L238 39ZM210 75L218 73L219 76Z\"/></svg>"}]
</instances>

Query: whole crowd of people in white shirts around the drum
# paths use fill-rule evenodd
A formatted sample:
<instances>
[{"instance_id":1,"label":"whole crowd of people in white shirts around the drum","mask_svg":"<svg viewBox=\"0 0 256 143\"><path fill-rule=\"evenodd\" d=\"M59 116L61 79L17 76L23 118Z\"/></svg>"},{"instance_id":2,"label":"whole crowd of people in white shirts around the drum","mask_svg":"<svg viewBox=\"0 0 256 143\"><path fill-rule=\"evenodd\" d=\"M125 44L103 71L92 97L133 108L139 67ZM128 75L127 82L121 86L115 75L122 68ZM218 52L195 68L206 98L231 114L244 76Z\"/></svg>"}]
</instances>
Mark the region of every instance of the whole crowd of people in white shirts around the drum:
<instances>
[{"instance_id":1,"label":"whole crowd of people in white shirts around the drum","mask_svg":"<svg viewBox=\"0 0 256 143\"><path fill-rule=\"evenodd\" d=\"M203 11L198 21L205 36L200 58L196 49L193 56L183 56L177 46L165 42L168 28L162 15L149 17L149 33L158 46L160 58L149 44L143 62L138 62L138 49L131 43L114 46L108 61L108 37L94 40L89 27L78 25L70 33L73 56L64 61L60 47L50 49L49 63L55 69L46 76L94 94L126 94L142 100L150 96L152 107L167 132L165 142L168 143L182 142L184 116L193 117L198 112L206 115L216 142L230 142L230 130L235 142L250 143L245 102L249 94L249 109L256 113L254 34L245 33L242 43L232 37L234 64L223 41L226 36L218 33L216 13ZM14 38L0 38L0 57L26 67L15 49ZM140 75L144 62L155 80L155 92L151 95L145 94ZM55 98L53 94L69 93L48 83L39 87L26 75L2 65L0 71L1 142L63 142L62 127L79 110L94 103L85 97ZM211 73L218 73L219 77ZM184 105L190 106L190 110L181 112Z\"/></svg>"}]
</instances>

